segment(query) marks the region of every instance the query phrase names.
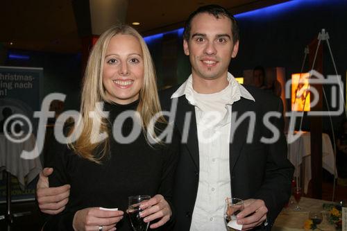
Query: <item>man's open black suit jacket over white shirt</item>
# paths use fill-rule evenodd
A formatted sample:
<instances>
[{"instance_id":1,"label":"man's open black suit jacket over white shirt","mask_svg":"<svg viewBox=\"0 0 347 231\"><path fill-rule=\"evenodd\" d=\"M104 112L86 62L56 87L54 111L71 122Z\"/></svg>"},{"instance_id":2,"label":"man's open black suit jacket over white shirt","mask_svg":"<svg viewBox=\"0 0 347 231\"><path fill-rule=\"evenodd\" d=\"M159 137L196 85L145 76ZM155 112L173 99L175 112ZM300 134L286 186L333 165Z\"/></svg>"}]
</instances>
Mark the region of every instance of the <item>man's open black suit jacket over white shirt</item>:
<instances>
[{"instance_id":1,"label":"man's open black suit jacket over white shirt","mask_svg":"<svg viewBox=\"0 0 347 231\"><path fill-rule=\"evenodd\" d=\"M246 86L245 86L246 87ZM178 87L160 92L162 110L171 110L171 95ZM237 119L245 113L255 113L255 129L251 143L246 142L250 119L244 119L235 130L234 139L230 142L230 180L232 196L242 199L262 199L269 209L267 220L269 225L257 229L270 230L271 225L287 203L291 194L291 178L293 165L287 160L287 142L283 133L282 101L268 92L255 87L246 87L255 99L241 98L232 104L232 114ZM198 191L199 157L198 137L196 129L195 109L185 98L178 98L174 123L181 135L184 134L185 118L191 113L187 142L180 145L180 160L176 170L174 186L173 211L174 230L189 230L192 213ZM271 117L271 124L279 131L280 139L273 144L260 142L261 137L271 138L273 132L264 126L263 117L266 112L280 112L280 118ZM247 115L247 114L246 114ZM187 127L187 125L186 125ZM235 128L235 123L231 124ZM268 126L269 127L269 126Z\"/></svg>"}]
</instances>

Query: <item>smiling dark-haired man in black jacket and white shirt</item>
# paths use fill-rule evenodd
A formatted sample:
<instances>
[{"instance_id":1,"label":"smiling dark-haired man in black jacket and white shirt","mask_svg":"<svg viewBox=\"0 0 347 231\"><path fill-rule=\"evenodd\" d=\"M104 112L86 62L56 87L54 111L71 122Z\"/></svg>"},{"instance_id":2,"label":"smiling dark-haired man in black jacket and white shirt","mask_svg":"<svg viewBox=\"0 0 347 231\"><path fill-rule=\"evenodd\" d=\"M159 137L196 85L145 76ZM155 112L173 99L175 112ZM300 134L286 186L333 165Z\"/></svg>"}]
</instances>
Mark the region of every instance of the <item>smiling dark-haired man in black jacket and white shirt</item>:
<instances>
[{"instance_id":1,"label":"smiling dark-haired man in black jacket and white shirt","mask_svg":"<svg viewBox=\"0 0 347 231\"><path fill-rule=\"evenodd\" d=\"M223 213L231 195L244 200L244 211L237 215L242 230L271 230L290 196L294 170L282 132L282 101L239 85L228 73L239 49L239 30L225 8L198 8L186 22L183 39L192 74L161 94L166 110L178 100L175 124L187 137L176 170L174 230L226 230ZM278 139L265 144L262 137L274 136L263 121L268 112L278 115L270 119ZM254 121L240 119L247 114Z\"/></svg>"}]
</instances>

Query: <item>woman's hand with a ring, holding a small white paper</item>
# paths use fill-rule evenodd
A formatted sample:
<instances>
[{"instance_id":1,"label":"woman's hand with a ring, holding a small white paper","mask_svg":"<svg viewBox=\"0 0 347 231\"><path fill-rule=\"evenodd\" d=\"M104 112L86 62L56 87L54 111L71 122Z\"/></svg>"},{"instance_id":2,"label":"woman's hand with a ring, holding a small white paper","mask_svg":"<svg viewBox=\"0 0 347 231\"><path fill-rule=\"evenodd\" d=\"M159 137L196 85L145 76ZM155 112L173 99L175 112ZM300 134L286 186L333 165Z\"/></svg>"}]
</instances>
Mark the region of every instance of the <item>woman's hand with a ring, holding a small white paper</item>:
<instances>
[{"instance_id":1,"label":"woman's hand with a ring, holding a small white paper","mask_svg":"<svg viewBox=\"0 0 347 231\"><path fill-rule=\"evenodd\" d=\"M78 210L72 226L74 230L116 230L116 224L123 219L123 211L105 211L99 207L88 207Z\"/></svg>"}]
</instances>

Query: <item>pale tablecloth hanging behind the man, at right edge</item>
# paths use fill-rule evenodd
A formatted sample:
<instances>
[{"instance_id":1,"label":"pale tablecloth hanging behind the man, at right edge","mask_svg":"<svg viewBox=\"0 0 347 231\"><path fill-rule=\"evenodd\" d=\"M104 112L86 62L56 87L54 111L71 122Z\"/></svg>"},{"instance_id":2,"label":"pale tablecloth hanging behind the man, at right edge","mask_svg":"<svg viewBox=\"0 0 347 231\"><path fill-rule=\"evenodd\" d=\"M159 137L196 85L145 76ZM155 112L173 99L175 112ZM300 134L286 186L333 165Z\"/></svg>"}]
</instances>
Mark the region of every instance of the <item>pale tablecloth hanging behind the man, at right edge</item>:
<instances>
[{"instance_id":1,"label":"pale tablecloth hanging behind the man, at right edge","mask_svg":"<svg viewBox=\"0 0 347 231\"><path fill-rule=\"evenodd\" d=\"M332 144L328 134L322 134L322 166L324 169L335 175L337 178L337 170L335 164L334 150L332 149ZM310 132L303 132L303 134L296 139L296 141L288 144L288 159L291 164L296 166L294 176L298 176L298 166L303 162L304 172L303 172L303 184L305 194L307 194L308 183L312 179L311 173L311 134ZM296 161L298 163L296 164Z\"/></svg>"}]
</instances>

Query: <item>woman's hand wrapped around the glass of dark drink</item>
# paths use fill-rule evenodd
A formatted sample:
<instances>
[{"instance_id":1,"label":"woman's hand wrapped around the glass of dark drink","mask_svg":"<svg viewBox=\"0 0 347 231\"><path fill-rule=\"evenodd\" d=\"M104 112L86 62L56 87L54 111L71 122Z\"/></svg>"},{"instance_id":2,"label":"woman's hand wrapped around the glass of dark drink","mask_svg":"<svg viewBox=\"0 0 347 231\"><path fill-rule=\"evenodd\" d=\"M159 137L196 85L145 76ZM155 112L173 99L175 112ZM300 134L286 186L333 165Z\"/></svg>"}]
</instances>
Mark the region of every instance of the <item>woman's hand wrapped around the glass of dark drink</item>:
<instances>
[{"instance_id":1,"label":"woman's hand wrapped around the glass of dark drink","mask_svg":"<svg viewBox=\"0 0 347 231\"><path fill-rule=\"evenodd\" d=\"M167 221L169 221L172 212L169 203L164 199L164 196L157 194L153 196L150 200L147 200L144 203L141 203L139 206L141 209L144 209L141 212L141 216L144 218L144 222L150 222L155 219L160 219L157 223L153 223L150 225L151 229L158 228Z\"/></svg>"}]
</instances>

